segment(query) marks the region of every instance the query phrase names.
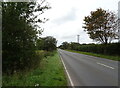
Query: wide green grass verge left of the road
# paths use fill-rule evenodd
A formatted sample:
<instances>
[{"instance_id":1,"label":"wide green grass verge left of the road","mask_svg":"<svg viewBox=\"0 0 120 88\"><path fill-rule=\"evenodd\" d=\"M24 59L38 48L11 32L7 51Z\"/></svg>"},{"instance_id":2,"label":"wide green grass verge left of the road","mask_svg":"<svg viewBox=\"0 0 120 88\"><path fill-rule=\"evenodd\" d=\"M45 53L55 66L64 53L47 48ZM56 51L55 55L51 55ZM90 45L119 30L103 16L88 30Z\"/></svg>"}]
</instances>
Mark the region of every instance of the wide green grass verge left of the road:
<instances>
[{"instance_id":1,"label":"wide green grass verge left of the road","mask_svg":"<svg viewBox=\"0 0 120 88\"><path fill-rule=\"evenodd\" d=\"M3 86L66 86L62 62L55 51L41 60L40 66L28 73L3 76Z\"/></svg>"}]
</instances>

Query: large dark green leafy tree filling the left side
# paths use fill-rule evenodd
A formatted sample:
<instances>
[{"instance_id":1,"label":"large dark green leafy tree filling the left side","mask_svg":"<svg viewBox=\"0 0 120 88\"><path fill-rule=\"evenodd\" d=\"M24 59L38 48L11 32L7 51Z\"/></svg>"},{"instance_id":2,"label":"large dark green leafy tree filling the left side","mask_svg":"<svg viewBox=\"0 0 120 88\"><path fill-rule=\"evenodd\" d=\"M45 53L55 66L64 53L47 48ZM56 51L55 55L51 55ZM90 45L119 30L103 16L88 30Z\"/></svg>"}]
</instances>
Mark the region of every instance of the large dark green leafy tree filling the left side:
<instances>
[{"instance_id":1,"label":"large dark green leafy tree filling the left side","mask_svg":"<svg viewBox=\"0 0 120 88\"><path fill-rule=\"evenodd\" d=\"M44 0L45 1L45 0ZM16 70L30 69L37 65L35 42L38 31L38 18L48 5L37 2L2 3L2 54L3 73L13 74ZM36 15L35 13L39 13ZM27 64L26 64L27 63Z\"/></svg>"}]
</instances>

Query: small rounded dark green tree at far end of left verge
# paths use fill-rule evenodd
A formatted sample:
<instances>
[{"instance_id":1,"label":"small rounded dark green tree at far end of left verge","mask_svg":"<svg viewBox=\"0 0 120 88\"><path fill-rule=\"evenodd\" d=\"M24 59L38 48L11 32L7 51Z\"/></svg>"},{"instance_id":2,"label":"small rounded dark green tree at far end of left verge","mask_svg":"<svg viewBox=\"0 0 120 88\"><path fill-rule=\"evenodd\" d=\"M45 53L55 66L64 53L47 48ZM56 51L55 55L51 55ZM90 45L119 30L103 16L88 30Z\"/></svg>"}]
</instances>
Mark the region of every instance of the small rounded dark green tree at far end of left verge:
<instances>
[{"instance_id":1,"label":"small rounded dark green tree at far end of left verge","mask_svg":"<svg viewBox=\"0 0 120 88\"><path fill-rule=\"evenodd\" d=\"M40 38L37 40L37 48L39 50L54 51L56 50L57 40L52 36Z\"/></svg>"}]
</instances>

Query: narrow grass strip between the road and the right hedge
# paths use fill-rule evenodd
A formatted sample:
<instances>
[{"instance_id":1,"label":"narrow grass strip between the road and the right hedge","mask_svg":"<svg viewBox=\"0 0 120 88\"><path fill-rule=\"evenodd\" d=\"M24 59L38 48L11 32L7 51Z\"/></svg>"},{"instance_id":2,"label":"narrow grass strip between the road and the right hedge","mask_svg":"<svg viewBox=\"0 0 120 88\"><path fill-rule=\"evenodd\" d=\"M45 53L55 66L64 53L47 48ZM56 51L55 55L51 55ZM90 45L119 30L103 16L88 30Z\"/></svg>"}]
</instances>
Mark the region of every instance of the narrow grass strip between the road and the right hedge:
<instances>
[{"instance_id":1,"label":"narrow grass strip between the road and the right hedge","mask_svg":"<svg viewBox=\"0 0 120 88\"><path fill-rule=\"evenodd\" d=\"M96 56L96 57L101 57L101 58L106 58L106 59L115 60L115 61L120 61L120 56L108 56L108 55L95 54L95 53L90 53L90 52L74 51L74 50L67 50L67 51L85 54L85 55Z\"/></svg>"}]
</instances>

